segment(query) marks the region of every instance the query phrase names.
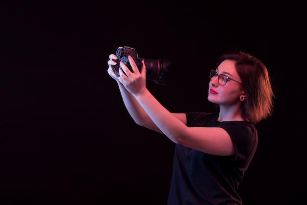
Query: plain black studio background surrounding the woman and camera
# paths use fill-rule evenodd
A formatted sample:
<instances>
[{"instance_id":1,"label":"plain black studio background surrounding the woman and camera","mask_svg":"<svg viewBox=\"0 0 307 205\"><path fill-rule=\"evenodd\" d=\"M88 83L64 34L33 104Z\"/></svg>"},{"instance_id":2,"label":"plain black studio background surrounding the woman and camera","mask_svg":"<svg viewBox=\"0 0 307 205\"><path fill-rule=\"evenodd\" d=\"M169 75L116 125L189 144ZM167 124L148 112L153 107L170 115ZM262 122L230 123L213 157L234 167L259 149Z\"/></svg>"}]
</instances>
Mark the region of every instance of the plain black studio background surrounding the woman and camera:
<instances>
[{"instance_id":1,"label":"plain black studio background surrounding the woman and camera","mask_svg":"<svg viewBox=\"0 0 307 205\"><path fill-rule=\"evenodd\" d=\"M244 205L306 203L306 11L295 1L1 3L0 204L165 205L174 144L129 117L107 60L171 59L148 88L171 112L214 111L208 73L241 48L277 99L239 186Z\"/></svg>"}]
</instances>

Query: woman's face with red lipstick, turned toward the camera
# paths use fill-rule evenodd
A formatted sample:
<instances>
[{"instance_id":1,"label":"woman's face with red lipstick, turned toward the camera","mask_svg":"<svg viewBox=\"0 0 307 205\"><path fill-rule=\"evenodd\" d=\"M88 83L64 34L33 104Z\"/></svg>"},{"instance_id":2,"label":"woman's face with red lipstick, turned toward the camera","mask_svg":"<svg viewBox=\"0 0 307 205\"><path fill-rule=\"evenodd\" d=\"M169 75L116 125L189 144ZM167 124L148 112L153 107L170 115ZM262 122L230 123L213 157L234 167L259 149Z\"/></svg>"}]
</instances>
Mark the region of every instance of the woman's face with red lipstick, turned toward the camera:
<instances>
[{"instance_id":1,"label":"woman's face with red lipstick, turned toward the camera","mask_svg":"<svg viewBox=\"0 0 307 205\"><path fill-rule=\"evenodd\" d=\"M234 64L235 61L227 59L215 70L218 74L223 74L235 81L228 79L226 85L221 86L218 83L218 76L213 76L209 82L208 100L210 102L221 106L232 106L241 103L240 95L244 93L244 89L238 83L242 81L235 70ZM220 78L222 79L222 76Z\"/></svg>"}]
</instances>

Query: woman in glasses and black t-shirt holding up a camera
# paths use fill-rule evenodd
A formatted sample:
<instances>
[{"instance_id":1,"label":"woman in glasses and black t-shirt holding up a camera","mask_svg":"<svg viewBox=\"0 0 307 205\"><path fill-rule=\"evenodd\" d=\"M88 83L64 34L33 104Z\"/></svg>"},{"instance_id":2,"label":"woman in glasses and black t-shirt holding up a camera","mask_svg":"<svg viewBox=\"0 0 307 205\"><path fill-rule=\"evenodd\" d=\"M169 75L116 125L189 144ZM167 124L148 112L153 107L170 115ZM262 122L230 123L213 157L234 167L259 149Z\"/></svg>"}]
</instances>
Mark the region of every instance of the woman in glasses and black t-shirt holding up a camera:
<instances>
[{"instance_id":1,"label":"woman in glasses and black t-shirt holding up a camera","mask_svg":"<svg viewBox=\"0 0 307 205\"><path fill-rule=\"evenodd\" d=\"M163 133L176 143L168 205L242 205L237 193L258 143L255 124L272 115L274 93L265 65L240 50L224 54L210 71L208 100L218 113L170 113L146 88L141 72L133 72L117 56L108 60L134 121ZM126 74L125 74L126 73Z\"/></svg>"}]
</instances>

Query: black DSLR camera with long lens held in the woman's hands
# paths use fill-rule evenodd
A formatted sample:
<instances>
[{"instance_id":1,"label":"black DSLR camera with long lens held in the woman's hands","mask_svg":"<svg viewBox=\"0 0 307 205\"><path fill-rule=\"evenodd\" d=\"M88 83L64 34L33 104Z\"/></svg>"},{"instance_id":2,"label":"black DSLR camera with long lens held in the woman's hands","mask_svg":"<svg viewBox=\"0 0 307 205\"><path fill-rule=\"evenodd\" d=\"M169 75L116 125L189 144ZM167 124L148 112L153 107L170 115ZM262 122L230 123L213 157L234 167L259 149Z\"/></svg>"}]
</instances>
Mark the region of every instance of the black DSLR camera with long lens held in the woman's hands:
<instances>
[{"instance_id":1,"label":"black DSLR camera with long lens held in the woman's hands","mask_svg":"<svg viewBox=\"0 0 307 205\"><path fill-rule=\"evenodd\" d=\"M118 59L115 60L117 64L113 66L113 71L116 73L116 75L119 76L118 69L120 67L120 61L122 61L128 67L128 69L133 72L128 60L128 56L131 56L132 59L134 59L135 64L137 65L140 72L143 65L142 60L144 60L144 64L146 66L146 80L151 80L154 83L160 85L167 85L167 66L172 63L171 60L139 58L137 51L134 48L128 46L118 48L116 50L116 56L118 57Z\"/></svg>"}]
</instances>

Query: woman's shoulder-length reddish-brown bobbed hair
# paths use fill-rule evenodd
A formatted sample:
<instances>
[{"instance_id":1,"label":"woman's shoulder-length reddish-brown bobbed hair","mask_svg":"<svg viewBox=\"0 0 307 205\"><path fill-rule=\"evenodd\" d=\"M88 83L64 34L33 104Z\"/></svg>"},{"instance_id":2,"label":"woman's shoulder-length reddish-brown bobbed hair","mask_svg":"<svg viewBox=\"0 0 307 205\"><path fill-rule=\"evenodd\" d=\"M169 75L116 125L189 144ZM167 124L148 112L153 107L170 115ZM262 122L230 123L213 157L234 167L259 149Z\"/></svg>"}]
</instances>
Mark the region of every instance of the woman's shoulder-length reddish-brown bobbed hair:
<instances>
[{"instance_id":1,"label":"woman's shoulder-length reddish-brown bobbed hair","mask_svg":"<svg viewBox=\"0 0 307 205\"><path fill-rule=\"evenodd\" d=\"M235 61L235 69L245 88L246 99L241 109L243 119L256 124L272 116L275 95L266 66L251 54L235 49L224 53L216 67L226 59Z\"/></svg>"}]
</instances>

